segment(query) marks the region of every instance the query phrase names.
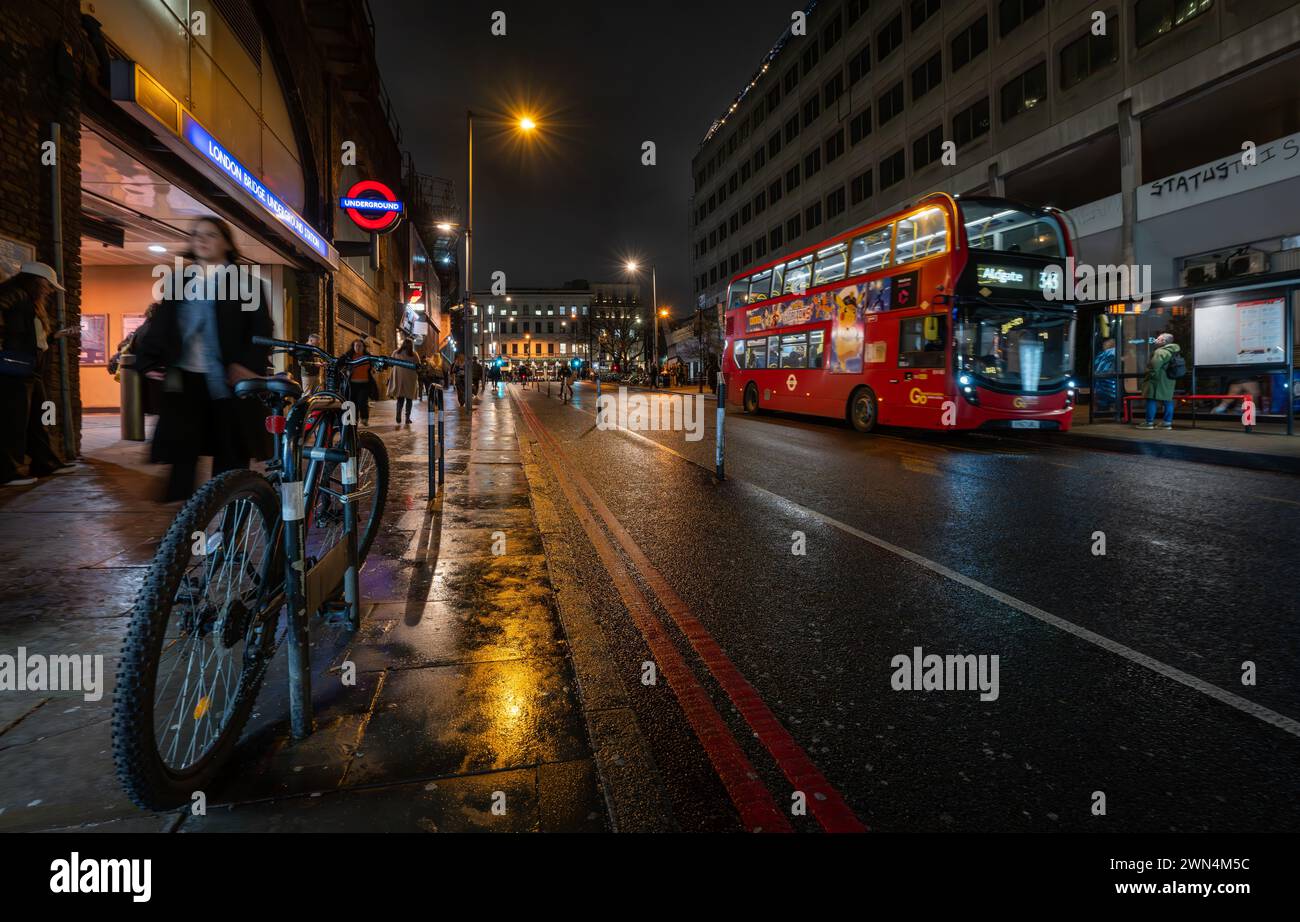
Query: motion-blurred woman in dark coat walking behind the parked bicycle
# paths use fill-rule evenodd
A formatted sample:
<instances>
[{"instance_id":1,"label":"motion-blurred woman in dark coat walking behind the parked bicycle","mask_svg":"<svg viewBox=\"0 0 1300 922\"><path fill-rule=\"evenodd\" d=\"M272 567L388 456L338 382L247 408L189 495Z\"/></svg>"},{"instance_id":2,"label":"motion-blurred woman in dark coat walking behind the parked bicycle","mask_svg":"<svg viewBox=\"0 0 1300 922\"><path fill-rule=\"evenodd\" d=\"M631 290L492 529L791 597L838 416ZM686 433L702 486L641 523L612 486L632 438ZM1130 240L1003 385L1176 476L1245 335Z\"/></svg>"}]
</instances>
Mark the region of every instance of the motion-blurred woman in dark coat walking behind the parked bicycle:
<instances>
[{"instance_id":1,"label":"motion-blurred woman in dark coat walking behind the parked bicycle","mask_svg":"<svg viewBox=\"0 0 1300 922\"><path fill-rule=\"evenodd\" d=\"M252 308L234 293L216 298L222 294L213 290L216 273L239 263L234 231L220 218L195 222L188 257L203 270L200 296L188 296L186 290L162 300L148 328L135 337L136 371L164 373L152 446L153 460L172 466L164 502L194 493L200 455L212 456L214 477L269 454L265 408L257 401L237 399L234 385L266 373L269 354L254 337L273 333L270 294L263 289Z\"/></svg>"}]
</instances>

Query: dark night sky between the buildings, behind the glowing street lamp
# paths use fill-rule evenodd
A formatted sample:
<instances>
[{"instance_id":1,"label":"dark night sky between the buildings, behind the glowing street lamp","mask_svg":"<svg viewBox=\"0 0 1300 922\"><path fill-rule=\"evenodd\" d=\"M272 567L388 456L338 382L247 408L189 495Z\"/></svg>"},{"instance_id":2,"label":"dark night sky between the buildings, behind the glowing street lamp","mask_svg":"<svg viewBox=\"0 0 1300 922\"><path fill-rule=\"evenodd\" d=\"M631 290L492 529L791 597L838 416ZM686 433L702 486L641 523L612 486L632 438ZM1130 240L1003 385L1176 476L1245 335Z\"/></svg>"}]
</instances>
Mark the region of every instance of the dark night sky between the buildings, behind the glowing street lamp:
<instances>
[{"instance_id":1,"label":"dark night sky between the buildings, behind the glowing street lamp","mask_svg":"<svg viewBox=\"0 0 1300 922\"><path fill-rule=\"evenodd\" d=\"M694 310L690 159L802 5L370 0L402 146L462 207L474 109L476 287L495 269L511 287L624 281L632 256L656 265L675 313ZM526 144L500 124L523 109L541 124ZM656 166L641 165L645 140Z\"/></svg>"}]
</instances>

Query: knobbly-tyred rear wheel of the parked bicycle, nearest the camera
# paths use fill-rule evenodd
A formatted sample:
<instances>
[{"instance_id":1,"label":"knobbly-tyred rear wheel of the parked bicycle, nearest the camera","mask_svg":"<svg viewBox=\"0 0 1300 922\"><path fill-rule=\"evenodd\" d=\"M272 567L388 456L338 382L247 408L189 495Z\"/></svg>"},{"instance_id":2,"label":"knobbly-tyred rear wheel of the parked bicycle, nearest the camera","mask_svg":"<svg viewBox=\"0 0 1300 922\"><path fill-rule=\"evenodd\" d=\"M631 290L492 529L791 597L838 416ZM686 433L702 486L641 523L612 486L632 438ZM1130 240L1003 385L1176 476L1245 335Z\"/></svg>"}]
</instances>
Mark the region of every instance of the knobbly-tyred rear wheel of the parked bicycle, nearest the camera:
<instances>
[{"instance_id":1,"label":"knobbly-tyred rear wheel of the parked bicycle, nearest the camera","mask_svg":"<svg viewBox=\"0 0 1300 922\"><path fill-rule=\"evenodd\" d=\"M280 505L252 471L208 481L181 508L131 611L113 700L113 759L127 796L164 810L229 759L274 646L260 606L282 583Z\"/></svg>"}]
</instances>

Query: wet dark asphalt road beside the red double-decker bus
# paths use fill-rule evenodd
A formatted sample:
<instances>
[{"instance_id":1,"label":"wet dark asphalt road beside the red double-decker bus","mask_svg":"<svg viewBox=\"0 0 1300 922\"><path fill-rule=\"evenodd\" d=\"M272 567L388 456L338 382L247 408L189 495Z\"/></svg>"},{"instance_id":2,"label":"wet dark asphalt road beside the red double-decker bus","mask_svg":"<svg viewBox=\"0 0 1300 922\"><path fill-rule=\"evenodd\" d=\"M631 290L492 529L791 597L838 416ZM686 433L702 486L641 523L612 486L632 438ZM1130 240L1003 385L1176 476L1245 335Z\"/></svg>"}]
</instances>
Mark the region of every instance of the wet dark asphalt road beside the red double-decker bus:
<instances>
[{"instance_id":1,"label":"wet dark asphalt road beside the red double-decker bus","mask_svg":"<svg viewBox=\"0 0 1300 922\"><path fill-rule=\"evenodd\" d=\"M1300 826L1296 479L728 414L719 484L712 401L688 441L595 428L590 385L573 406L510 393L495 399L523 403L521 428L549 433L530 436L550 458L543 480L585 480L623 532L584 498L592 532L555 490L552 540L598 612L679 828L738 828L745 804L714 735L701 743L697 705L641 681L653 644L599 542L783 811L807 793L789 771L806 756L881 831ZM763 740L708 641L794 752ZM997 697L894 691L894 657L918 648L997 655ZM812 809L790 822L826 826Z\"/></svg>"}]
</instances>

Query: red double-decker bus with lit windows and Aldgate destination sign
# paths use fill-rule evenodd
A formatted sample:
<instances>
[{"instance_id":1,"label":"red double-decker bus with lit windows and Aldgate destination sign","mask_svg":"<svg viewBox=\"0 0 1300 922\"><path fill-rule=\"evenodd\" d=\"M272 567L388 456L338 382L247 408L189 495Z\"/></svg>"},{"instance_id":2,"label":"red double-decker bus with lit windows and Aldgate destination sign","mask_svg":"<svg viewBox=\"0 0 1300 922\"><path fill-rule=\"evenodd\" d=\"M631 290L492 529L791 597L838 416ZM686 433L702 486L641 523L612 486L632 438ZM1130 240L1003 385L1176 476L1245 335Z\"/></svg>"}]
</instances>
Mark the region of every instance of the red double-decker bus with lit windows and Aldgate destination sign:
<instances>
[{"instance_id":1,"label":"red double-decker bus with lit windows and Aldgate destination sign","mask_svg":"<svg viewBox=\"0 0 1300 922\"><path fill-rule=\"evenodd\" d=\"M1063 216L930 195L732 280L728 402L919 429L1070 428Z\"/></svg>"}]
</instances>

